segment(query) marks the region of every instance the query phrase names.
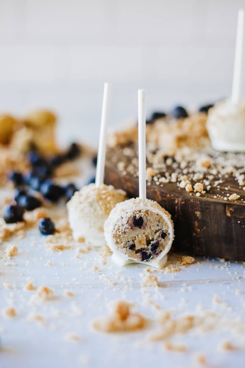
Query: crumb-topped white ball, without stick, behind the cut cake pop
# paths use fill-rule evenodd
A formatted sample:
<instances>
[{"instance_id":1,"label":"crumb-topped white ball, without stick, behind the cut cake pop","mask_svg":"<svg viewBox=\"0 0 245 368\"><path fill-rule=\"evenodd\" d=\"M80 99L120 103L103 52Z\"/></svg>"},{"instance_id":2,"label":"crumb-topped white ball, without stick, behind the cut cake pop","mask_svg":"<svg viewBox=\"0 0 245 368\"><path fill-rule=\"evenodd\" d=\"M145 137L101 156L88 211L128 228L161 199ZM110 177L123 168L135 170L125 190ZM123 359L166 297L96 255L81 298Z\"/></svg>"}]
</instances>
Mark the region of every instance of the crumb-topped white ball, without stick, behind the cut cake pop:
<instances>
[{"instance_id":1,"label":"crumb-topped white ball, without stick, behind the cut cake pop","mask_svg":"<svg viewBox=\"0 0 245 368\"><path fill-rule=\"evenodd\" d=\"M106 245L104 222L118 202L125 201L126 193L112 185L84 186L67 203L68 220L76 241L85 241L96 247Z\"/></svg>"}]
</instances>

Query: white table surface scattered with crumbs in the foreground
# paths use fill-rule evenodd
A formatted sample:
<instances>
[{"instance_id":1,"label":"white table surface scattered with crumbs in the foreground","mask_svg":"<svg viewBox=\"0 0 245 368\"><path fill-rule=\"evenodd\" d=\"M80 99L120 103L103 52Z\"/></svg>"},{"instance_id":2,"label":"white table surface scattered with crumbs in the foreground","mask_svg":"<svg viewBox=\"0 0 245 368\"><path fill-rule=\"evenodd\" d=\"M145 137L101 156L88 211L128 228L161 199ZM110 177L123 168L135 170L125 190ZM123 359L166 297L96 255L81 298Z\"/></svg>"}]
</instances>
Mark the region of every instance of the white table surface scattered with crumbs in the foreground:
<instances>
[{"instance_id":1,"label":"white table surface scattered with crumbs in the foreground","mask_svg":"<svg viewBox=\"0 0 245 368\"><path fill-rule=\"evenodd\" d=\"M92 169L84 172L86 181ZM36 245L32 245L32 241ZM15 318L0 317L0 367L196 367L195 354L207 357L208 367L244 367L244 350L218 352L217 344L224 338L235 342L236 337L221 330L205 335L190 333L181 337L188 346L186 353L165 351L162 342L149 342L147 336L152 328L133 333L104 334L91 327L94 318L107 315L107 303L111 300L133 301L139 311L154 318L157 310L145 305L148 297L163 309L176 309L181 314L195 311L197 305L227 314L231 320L245 317L245 265L241 262L222 263L219 260L196 259L187 268L176 273L155 273L159 281L154 287L141 288L144 265L130 265L119 269L108 258L107 265L100 264L99 252L95 249L75 259L74 250L47 252L44 236L37 228L28 230L23 240L10 240L17 244L18 254L6 265L2 255L7 243L0 245L0 309L13 306ZM48 260L53 265L47 266ZM85 263L84 265L84 262ZM97 265L99 272L92 272ZM216 267L217 266L217 267ZM141 273L141 275L139 275ZM104 278L100 276L104 274ZM119 279L118 275L125 276ZM54 290L54 298L40 305L30 305L35 291L24 291L30 278L35 287L44 284ZM112 279L114 284L108 282ZM9 283L7 289L4 283ZM186 284L183 286L183 284ZM189 290L188 286L192 286ZM74 297L64 295L71 290ZM235 290L239 289L240 294ZM221 308L213 303L217 294L230 308ZM27 322L30 312L40 313L45 325ZM75 333L80 342L65 340L68 333ZM244 336L245 337L245 336ZM142 343L142 344L141 344ZM245 348L245 342L244 346Z\"/></svg>"}]
</instances>

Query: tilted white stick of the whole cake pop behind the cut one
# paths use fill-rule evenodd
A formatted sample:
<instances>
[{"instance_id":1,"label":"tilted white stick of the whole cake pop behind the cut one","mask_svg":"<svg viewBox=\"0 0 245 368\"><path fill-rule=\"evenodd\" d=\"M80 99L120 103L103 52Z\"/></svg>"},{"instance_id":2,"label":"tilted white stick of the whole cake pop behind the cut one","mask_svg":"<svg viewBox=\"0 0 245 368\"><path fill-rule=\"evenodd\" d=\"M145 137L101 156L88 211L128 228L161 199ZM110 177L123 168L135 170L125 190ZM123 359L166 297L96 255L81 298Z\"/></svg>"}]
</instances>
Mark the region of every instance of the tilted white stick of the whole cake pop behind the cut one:
<instances>
[{"instance_id":1,"label":"tilted white stick of the whole cake pop behind the cut one","mask_svg":"<svg viewBox=\"0 0 245 368\"><path fill-rule=\"evenodd\" d=\"M101 113L101 123L100 123L100 141L96 166L96 178L95 178L96 187L99 187L101 184L104 183L106 133L107 133L107 122L108 122L110 102L111 102L111 83L105 83L102 113Z\"/></svg>"}]
</instances>

